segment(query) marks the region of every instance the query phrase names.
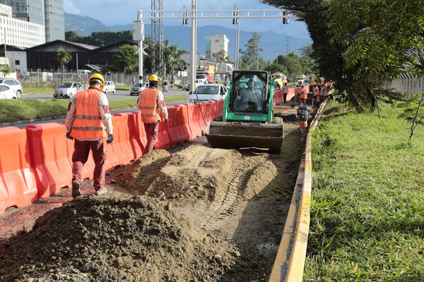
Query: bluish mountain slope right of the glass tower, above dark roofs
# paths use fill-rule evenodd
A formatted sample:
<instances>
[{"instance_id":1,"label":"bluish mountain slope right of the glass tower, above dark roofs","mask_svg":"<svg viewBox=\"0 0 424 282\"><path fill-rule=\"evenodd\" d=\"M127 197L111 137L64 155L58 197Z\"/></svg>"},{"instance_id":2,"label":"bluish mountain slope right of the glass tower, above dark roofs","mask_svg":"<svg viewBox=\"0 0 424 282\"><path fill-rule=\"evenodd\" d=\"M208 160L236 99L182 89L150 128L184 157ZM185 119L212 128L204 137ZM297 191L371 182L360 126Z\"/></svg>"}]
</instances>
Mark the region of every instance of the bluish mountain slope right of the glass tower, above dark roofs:
<instances>
[{"instance_id":1,"label":"bluish mountain slope right of the glass tower, above dark roofs","mask_svg":"<svg viewBox=\"0 0 424 282\"><path fill-rule=\"evenodd\" d=\"M107 31L109 27L103 25L100 20L95 20L94 18L78 16L73 13L65 13L65 30L76 30L78 35L87 36L91 35L93 31Z\"/></svg>"}]
</instances>

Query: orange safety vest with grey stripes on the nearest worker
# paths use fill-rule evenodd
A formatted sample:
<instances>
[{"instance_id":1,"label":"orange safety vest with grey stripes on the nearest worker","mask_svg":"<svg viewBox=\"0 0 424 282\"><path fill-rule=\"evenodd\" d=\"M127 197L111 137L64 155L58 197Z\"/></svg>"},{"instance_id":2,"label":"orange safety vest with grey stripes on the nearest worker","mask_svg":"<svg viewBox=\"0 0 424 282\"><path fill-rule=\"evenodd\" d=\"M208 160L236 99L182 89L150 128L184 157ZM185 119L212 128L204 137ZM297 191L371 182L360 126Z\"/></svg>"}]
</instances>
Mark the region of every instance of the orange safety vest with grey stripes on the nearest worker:
<instances>
[{"instance_id":1,"label":"orange safety vest with grey stripes on the nearest worker","mask_svg":"<svg viewBox=\"0 0 424 282\"><path fill-rule=\"evenodd\" d=\"M71 128L71 136L76 138L106 138L107 131L99 111L102 92L89 88L76 93L76 113Z\"/></svg>"}]
</instances>

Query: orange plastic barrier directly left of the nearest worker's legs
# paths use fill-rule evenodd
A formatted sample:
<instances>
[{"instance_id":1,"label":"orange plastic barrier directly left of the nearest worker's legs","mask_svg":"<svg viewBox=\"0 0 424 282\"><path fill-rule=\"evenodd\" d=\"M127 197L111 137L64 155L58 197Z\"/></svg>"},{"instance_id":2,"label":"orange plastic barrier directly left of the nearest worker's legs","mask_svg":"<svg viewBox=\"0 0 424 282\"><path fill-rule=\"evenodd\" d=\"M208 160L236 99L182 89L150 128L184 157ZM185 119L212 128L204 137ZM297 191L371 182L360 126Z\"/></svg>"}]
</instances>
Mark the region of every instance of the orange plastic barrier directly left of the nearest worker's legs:
<instances>
[{"instance_id":1,"label":"orange plastic barrier directly left of the nearest worker's legs","mask_svg":"<svg viewBox=\"0 0 424 282\"><path fill-rule=\"evenodd\" d=\"M38 197L54 195L62 187L71 187L72 169L66 128L58 123L28 125L29 153L35 171Z\"/></svg>"}]
</instances>

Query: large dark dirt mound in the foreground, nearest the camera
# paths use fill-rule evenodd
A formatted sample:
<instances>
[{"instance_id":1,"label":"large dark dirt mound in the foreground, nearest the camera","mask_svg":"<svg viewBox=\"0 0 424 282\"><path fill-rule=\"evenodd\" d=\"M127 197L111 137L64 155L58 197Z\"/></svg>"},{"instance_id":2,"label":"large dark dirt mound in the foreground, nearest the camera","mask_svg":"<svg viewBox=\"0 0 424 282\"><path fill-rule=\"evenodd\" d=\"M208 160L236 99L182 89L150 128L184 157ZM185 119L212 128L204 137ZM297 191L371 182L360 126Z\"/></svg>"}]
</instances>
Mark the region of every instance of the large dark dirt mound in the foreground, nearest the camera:
<instances>
[{"instance_id":1,"label":"large dark dirt mound in the foreground, nearest the camera","mask_svg":"<svg viewBox=\"0 0 424 282\"><path fill-rule=\"evenodd\" d=\"M265 281L267 259L168 209L142 196L73 200L0 243L0 281Z\"/></svg>"}]
</instances>

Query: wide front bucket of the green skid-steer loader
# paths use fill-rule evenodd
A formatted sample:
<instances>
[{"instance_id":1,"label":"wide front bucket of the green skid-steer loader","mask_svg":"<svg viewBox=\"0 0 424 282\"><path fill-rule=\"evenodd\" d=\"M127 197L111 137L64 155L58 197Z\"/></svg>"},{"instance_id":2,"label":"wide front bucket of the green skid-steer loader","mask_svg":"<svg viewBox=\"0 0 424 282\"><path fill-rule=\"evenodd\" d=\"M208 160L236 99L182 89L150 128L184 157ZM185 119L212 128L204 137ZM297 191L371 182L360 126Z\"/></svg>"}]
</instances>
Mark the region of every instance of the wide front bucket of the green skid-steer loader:
<instances>
[{"instance_id":1,"label":"wide front bucket of the green skid-steer loader","mask_svg":"<svg viewBox=\"0 0 424 282\"><path fill-rule=\"evenodd\" d=\"M206 129L206 138L213 148L257 147L280 152L283 147L284 125L213 121Z\"/></svg>"}]
</instances>

